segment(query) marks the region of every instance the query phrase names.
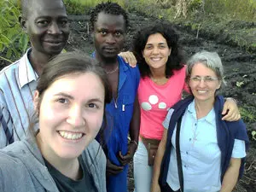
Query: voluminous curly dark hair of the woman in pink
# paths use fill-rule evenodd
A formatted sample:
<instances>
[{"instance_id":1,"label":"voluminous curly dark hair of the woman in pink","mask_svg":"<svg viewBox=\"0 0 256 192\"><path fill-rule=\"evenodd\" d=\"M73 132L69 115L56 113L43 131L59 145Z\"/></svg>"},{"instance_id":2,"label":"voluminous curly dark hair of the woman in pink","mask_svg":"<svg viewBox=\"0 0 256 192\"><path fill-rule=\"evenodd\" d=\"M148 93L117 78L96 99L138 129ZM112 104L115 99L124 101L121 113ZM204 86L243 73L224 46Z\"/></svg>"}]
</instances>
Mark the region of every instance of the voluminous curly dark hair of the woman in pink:
<instances>
[{"instance_id":1,"label":"voluminous curly dark hair of the woman in pink","mask_svg":"<svg viewBox=\"0 0 256 192\"><path fill-rule=\"evenodd\" d=\"M183 68L183 54L178 45L178 35L175 32L171 23L167 21L156 21L151 26L146 26L142 30L138 31L133 39L133 54L137 58L138 67L142 78L150 77L151 71L143 58L143 49L148 42L148 37L152 34L160 33L164 38L169 48L172 48L171 55L169 55L166 62L166 78L170 78L173 74L173 69Z\"/></svg>"}]
</instances>

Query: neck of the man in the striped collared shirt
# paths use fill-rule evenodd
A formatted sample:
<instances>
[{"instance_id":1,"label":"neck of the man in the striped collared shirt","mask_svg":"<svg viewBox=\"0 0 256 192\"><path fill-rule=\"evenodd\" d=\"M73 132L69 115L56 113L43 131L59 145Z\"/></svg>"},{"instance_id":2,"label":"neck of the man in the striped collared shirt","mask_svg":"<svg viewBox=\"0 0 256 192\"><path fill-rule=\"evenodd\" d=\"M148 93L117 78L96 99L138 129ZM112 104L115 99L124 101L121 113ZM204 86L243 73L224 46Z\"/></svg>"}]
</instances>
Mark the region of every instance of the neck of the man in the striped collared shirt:
<instances>
[{"instance_id":1,"label":"neck of the man in the striped collared shirt","mask_svg":"<svg viewBox=\"0 0 256 192\"><path fill-rule=\"evenodd\" d=\"M28 59L32 64L33 69L40 76L43 72L45 64L49 61L51 55L45 55L38 51L32 49L31 53L28 55Z\"/></svg>"}]
</instances>

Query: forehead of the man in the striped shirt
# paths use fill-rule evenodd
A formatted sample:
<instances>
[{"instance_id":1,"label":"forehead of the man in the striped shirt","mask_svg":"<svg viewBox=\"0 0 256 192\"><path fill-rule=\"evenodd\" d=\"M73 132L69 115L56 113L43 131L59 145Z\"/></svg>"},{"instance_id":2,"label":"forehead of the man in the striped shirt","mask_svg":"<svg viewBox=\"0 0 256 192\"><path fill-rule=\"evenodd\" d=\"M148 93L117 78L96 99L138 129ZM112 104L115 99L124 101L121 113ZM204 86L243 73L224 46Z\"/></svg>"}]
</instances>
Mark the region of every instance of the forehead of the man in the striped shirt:
<instances>
[{"instance_id":1,"label":"forehead of the man in the striped shirt","mask_svg":"<svg viewBox=\"0 0 256 192\"><path fill-rule=\"evenodd\" d=\"M61 0L32 0L28 9L29 18L37 17L67 17L65 5Z\"/></svg>"}]
</instances>

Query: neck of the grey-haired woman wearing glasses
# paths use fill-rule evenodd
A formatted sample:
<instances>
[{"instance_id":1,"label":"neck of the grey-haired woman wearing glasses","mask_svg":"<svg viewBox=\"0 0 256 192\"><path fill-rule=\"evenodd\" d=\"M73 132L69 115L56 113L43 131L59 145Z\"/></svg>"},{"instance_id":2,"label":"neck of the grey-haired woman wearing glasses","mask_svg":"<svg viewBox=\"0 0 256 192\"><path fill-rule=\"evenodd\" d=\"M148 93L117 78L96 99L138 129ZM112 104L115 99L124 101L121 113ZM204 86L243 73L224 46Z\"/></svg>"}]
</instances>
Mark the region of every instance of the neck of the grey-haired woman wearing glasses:
<instances>
[{"instance_id":1,"label":"neck of the grey-haired woman wearing glasses","mask_svg":"<svg viewBox=\"0 0 256 192\"><path fill-rule=\"evenodd\" d=\"M214 104L214 98L212 98L212 101L198 101L195 99L195 112L196 112L196 118L201 119L212 110Z\"/></svg>"}]
</instances>

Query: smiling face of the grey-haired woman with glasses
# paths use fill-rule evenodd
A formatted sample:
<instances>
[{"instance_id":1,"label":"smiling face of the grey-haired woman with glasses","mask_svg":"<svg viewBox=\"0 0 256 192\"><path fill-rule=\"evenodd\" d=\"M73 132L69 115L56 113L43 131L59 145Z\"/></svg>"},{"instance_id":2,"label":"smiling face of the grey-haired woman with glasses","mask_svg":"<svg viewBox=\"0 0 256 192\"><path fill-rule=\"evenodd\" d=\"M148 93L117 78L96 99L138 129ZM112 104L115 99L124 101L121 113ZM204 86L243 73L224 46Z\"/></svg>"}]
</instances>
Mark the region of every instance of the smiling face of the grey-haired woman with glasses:
<instances>
[{"instance_id":1,"label":"smiling face of the grey-haired woman with glasses","mask_svg":"<svg viewBox=\"0 0 256 192\"><path fill-rule=\"evenodd\" d=\"M216 73L201 62L192 68L189 87L197 101L214 101L215 92L220 88L221 81Z\"/></svg>"}]
</instances>

